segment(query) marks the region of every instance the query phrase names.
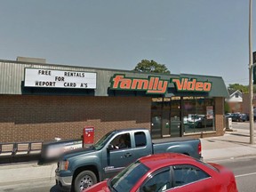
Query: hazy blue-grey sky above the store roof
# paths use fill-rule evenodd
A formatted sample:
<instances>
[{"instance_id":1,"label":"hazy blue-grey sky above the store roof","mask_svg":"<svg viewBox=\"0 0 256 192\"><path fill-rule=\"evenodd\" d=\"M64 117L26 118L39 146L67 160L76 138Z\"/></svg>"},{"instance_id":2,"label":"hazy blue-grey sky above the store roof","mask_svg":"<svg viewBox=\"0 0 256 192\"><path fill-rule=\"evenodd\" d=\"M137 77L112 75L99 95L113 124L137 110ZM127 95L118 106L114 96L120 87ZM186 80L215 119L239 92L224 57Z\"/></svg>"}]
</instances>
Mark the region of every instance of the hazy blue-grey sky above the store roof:
<instances>
[{"instance_id":1,"label":"hazy blue-grey sky above the store roof","mask_svg":"<svg viewBox=\"0 0 256 192\"><path fill-rule=\"evenodd\" d=\"M0 59L172 74L249 84L249 0L1 0ZM256 3L252 47L256 51Z\"/></svg>"}]
</instances>

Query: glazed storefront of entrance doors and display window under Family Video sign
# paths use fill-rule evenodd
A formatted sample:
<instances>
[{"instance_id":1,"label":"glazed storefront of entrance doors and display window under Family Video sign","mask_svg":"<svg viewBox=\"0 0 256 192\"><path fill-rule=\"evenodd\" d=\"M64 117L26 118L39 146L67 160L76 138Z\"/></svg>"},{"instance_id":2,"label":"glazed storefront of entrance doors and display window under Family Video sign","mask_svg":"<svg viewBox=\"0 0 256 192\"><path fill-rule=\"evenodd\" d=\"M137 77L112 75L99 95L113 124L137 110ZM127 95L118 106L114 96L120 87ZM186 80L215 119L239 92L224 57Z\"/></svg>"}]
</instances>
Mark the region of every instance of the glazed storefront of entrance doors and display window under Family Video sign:
<instances>
[{"instance_id":1,"label":"glazed storefront of entrance doors and display window under Family Video sign","mask_svg":"<svg viewBox=\"0 0 256 192\"><path fill-rule=\"evenodd\" d=\"M204 97L153 98L152 138L215 130L214 100Z\"/></svg>"}]
</instances>

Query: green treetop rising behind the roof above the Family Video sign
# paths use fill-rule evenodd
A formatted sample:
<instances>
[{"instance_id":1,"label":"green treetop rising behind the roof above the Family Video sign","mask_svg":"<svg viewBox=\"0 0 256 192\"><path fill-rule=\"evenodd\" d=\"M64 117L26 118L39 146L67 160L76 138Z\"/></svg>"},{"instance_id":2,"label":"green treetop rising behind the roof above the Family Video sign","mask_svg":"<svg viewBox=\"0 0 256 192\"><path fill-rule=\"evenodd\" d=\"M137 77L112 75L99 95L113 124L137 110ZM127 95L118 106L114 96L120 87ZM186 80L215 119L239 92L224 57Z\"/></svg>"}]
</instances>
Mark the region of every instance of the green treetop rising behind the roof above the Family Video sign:
<instances>
[{"instance_id":1,"label":"green treetop rising behind the roof above the Family Video sign","mask_svg":"<svg viewBox=\"0 0 256 192\"><path fill-rule=\"evenodd\" d=\"M164 64L159 64L155 60L141 60L137 66L133 69L134 71L139 72L153 72L153 73L162 73L170 74L170 70L165 67Z\"/></svg>"}]
</instances>

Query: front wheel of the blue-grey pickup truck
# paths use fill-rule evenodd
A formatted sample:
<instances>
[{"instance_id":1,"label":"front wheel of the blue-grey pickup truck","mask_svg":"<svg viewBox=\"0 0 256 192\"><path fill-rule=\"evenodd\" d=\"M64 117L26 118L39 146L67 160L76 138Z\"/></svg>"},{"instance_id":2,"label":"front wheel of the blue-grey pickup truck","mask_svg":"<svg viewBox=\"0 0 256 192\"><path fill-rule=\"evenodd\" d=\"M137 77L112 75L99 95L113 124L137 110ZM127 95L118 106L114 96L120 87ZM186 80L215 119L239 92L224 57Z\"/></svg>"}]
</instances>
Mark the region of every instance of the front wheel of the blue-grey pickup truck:
<instances>
[{"instance_id":1,"label":"front wheel of the blue-grey pickup truck","mask_svg":"<svg viewBox=\"0 0 256 192\"><path fill-rule=\"evenodd\" d=\"M80 192L84 190L84 188L89 188L95 183L97 183L97 178L94 172L84 171L84 172L80 172L76 176L74 188L76 192Z\"/></svg>"}]
</instances>

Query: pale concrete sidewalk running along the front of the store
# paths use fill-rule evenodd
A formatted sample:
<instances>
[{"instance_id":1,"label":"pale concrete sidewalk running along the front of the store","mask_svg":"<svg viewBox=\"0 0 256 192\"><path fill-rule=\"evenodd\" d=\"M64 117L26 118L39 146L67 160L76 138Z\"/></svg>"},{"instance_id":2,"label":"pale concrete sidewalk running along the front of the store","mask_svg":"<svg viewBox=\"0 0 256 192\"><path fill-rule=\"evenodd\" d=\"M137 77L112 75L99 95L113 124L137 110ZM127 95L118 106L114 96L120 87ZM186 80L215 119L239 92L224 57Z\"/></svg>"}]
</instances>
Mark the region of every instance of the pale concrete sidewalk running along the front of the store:
<instances>
[{"instance_id":1,"label":"pale concrete sidewalk running along the front of the store","mask_svg":"<svg viewBox=\"0 0 256 192\"><path fill-rule=\"evenodd\" d=\"M201 139L202 155L205 162L241 156L256 156L256 144L249 144L249 128L241 129L239 124L234 124L233 130L234 132L226 132L224 136ZM0 165L0 190L4 186L12 186L13 182L25 183L28 180L40 180L54 185L55 169L56 164Z\"/></svg>"}]
</instances>

